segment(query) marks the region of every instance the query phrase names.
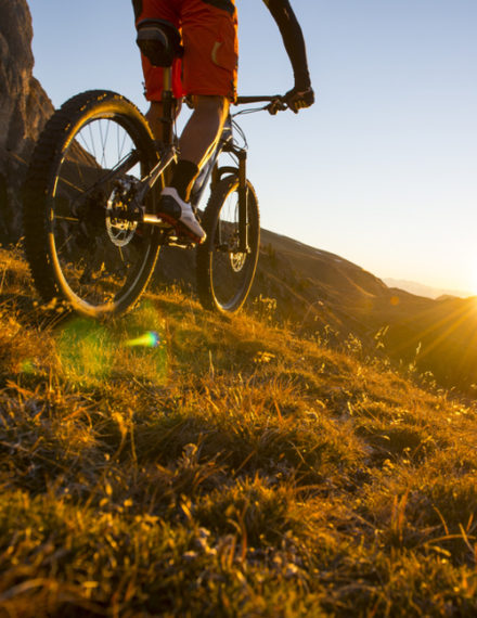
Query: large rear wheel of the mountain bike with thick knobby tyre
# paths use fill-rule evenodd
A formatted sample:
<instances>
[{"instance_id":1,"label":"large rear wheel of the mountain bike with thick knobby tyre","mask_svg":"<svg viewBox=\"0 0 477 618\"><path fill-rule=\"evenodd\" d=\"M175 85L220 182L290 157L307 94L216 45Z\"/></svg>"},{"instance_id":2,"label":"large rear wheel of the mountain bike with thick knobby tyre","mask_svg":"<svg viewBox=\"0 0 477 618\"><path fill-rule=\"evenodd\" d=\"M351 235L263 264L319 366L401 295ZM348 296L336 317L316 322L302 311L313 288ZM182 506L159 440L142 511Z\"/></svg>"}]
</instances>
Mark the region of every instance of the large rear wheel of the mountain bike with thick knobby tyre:
<instances>
[{"instance_id":1,"label":"large rear wheel of the mountain bike with thick knobby tyre","mask_svg":"<svg viewBox=\"0 0 477 618\"><path fill-rule=\"evenodd\" d=\"M156 160L145 119L119 94L83 92L52 116L24 198L25 252L43 300L94 318L133 306L154 270L158 232L117 213Z\"/></svg>"}]
</instances>

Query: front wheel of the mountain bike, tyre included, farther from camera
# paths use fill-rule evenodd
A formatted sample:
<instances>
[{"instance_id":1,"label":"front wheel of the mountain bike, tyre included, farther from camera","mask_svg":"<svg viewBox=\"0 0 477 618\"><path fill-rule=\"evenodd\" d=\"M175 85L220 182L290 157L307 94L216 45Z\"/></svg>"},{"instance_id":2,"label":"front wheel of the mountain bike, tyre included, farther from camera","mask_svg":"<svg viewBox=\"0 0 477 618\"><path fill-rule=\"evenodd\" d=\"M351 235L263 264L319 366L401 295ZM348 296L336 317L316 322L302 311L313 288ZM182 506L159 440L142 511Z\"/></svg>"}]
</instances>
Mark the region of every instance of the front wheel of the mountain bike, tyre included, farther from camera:
<instances>
[{"instance_id":1,"label":"front wheel of the mountain bike, tyre included, farther from camera","mask_svg":"<svg viewBox=\"0 0 477 618\"><path fill-rule=\"evenodd\" d=\"M247 249L243 249L238 178L228 176L214 188L203 217L207 239L197 247L197 293L204 308L234 313L245 302L257 267L260 221L254 188L247 181Z\"/></svg>"}]
</instances>

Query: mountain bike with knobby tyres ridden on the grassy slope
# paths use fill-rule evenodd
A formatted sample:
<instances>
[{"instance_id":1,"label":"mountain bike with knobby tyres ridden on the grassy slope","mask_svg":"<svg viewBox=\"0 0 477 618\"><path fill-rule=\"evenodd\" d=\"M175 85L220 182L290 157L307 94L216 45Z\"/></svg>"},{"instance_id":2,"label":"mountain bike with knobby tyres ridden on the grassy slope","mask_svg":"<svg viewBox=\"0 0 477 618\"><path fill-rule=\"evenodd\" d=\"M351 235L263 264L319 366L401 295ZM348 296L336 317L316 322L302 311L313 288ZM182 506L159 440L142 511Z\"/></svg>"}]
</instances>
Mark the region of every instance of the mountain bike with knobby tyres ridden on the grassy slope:
<instances>
[{"instance_id":1,"label":"mountain bike with knobby tyres ridden on the grassy slope","mask_svg":"<svg viewBox=\"0 0 477 618\"><path fill-rule=\"evenodd\" d=\"M178 36L170 27L165 33ZM260 224L257 196L246 177L246 139L234 120L241 112L230 115L192 192L198 208L210 189L198 214L205 243L197 246L158 211L160 191L178 158L171 59L180 48L169 43L173 53L164 70L163 142L154 140L136 105L99 90L64 103L39 138L25 183L23 220L26 257L46 302L93 318L125 312L144 292L164 246L196 249L197 294L205 308L233 313L247 298ZM237 100L253 103L266 105L246 112L286 108L281 96ZM219 165L222 154L233 165Z\"/></svg>"}]
</instances>

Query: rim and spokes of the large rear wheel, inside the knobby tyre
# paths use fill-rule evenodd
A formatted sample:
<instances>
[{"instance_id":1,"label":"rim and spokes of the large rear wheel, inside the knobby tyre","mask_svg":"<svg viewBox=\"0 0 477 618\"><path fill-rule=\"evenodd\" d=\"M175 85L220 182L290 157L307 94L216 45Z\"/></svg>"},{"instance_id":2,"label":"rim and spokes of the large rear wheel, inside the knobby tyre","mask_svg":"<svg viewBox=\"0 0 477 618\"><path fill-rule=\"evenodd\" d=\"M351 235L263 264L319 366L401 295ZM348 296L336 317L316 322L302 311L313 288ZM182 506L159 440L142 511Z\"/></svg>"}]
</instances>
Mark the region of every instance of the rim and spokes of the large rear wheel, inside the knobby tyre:
<instances>
[{"instance_id":1,"label":"rim and spokes of the large rear wheel, inside the knobby tyre","mask_svg":"<svg viewBox=\"0 0 477 618\"><path fill-rule=\"evenodd\" d=\"M141 139L126 116L96 113L76 128L56 169L53 267L64 296L86 312L127 304L151 257L153 231L117 217L149 167Z\"/></svg>"}]
</instances>

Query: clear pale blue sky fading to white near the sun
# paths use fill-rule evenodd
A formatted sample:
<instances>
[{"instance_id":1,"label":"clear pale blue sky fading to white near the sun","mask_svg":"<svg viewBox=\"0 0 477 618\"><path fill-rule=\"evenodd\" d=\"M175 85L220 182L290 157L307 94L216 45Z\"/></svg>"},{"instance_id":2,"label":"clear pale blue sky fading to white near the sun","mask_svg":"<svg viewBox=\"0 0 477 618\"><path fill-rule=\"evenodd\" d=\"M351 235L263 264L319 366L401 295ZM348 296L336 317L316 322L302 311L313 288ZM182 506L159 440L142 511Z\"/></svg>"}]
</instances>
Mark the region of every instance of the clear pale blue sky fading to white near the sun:
<instances>
[{"instance_id":1,"label":"clear pale blue sky fading to white near the sun","mask_svg":"<svg viewBox=\"0 0 477 618\"><path fill-rule=\"evenodd\" d=\"M240 92L293 76L261 0L236 0ZM381 278L477 294L477 1L292 0L317 104L244 117L262 226ZM53 103L121 92L142 110L129 0L29 0Z\"/></svg>"}]
</instances>

